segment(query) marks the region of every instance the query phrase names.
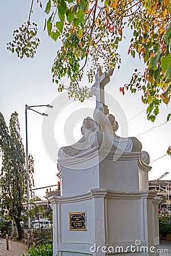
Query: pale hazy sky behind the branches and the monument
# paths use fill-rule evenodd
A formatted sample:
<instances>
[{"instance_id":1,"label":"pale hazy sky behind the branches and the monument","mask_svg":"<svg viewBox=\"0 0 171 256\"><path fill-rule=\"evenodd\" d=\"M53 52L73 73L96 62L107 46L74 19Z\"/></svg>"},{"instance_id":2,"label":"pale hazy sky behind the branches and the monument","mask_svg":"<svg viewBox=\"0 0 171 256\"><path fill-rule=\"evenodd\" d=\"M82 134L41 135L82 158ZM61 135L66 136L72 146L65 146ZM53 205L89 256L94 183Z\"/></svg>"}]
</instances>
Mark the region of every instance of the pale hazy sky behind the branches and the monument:
<instances>
[{"instance_id":1,"label":"pale hazy sky behind the branches and the monument","mask_svg":"<svg viewBox=\"0 0 171 256\"><path fill-rule=\"evenodd\" d=\"M1 94L0 94L0 111L4 115L6 122L8 123L12 112L18 112L19 122L21 127L21 135L23 138L23 144L25 146L25 114L24 108L27 105L45 105L50 104L59 96L57 86L52 83L51 67L55 58L55 52L59 47L59 43L54 43L44 28L45 14L43 10L45 8L45 2L42 1L43 9L37 7L35 1L35 11L32 15L33 22L36 22L39 27L39 38L41 45L37 50L34 59L23 60L18 59L15 54L7 51L6 43L12 40L12 32L18 28L28 18L29 6L31 1L1 1L1 40L0 40L0 56L1 56ZM131 36L131 35L130 35ZM129 35L127 35L129 38ZM131 74L135 68L142 68L143 64L139 59L133 60L127 55L126 45L129 40L125 40L119 52L122 57L121 68L114 71L111 81L105 86L106 92L112 94L112 96L119 102L119 105L123 109L128 122L128 135L136 137L138 134L146 133L149 129L159 126L166 121L166 116L169 110L166 105L163 105L160 110L159 117L156 118L155 123L147 120L146 105L141 101L141 93L131 94L126 92L125 96L119 92L119 87L130 81ZM67 83L67 80L64 80ZM87 80L83 81L83 85L88 85ZM91 85L88 85L91 86ZM106 102L108 105L108 102ZM88 110L85 110L89 108ZM71 134L74 134L75 140L82 137L80 133L80 127L82 121L87 115L92 117L93 108L95 108L95 100L86 100L83 104L80 102L67 102L67 105L60 110L57 116L54 126L55 143L58 146L66 146L70 144L73 139ZM85 110L84 112L82 110ZM46 108L36 109L40 112L45 112ZM76 125L72 132L71 127L65 127L65 133L63 127L67 123L67 119L71 117L71 114L75 110L80 110L83 116L75 120ZM51 109L48 109L50 115ZM58 110L59 111L59 110ZM143 112L143 113L141 113ZM139 114L141 113L141 114ZM47 118L50 118L47 117ZM117 117L119 119L119 117ZM42 119L39 114L33 113L28 110L28 150L35 159L35 188L44 187L48 185L57 184L57 166L56 163L49 157L44 148L42 142ZM48 120L48 119L47 119ZM66 125L67 126L67 125ZM49 138L52 134L49 135ZM119 135L119 133L117 134ZM146 134L138 135L137 138L142 142L143 150L147 151L151 161L166 154L166 150L171 146L170 139L170 122L167 125L161 125L155 127ZM53 147L53 146L52 146ZM149 180L159 178L164 172L168 171L164 179L171 179L170 170L170 158L165 156L155 162L152 162L152 170L149 172ZM45 195L45 189L36 191L37 196Z\"/></svg>"}]
</instances>

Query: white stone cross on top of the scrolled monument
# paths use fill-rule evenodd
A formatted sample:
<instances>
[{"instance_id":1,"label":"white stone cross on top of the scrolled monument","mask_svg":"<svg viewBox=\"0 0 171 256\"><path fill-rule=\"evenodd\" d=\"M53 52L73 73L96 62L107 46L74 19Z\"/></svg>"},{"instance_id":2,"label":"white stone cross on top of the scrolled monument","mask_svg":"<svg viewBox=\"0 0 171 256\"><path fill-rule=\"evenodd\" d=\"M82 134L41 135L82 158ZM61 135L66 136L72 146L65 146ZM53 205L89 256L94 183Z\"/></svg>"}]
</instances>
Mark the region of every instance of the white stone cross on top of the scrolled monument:
<instances>
[{"instance_id":1,"label":"white stone cross on top of the scrolled monument","mask_svg":"<svg viewBox=\"0 0 171 256\"><path fill-rule=\"evenodd\" d=\"M101 68L97 69L95 76L96 82L91 87L88 97L96 96L96 110L99 110L104 113L105 106L105 94L104 86L110 81L110 76L112 76L114 69L110 69L108 73L102 73ZM105 114L105 113L104 113Z\"/></svg>"}]
</instances>

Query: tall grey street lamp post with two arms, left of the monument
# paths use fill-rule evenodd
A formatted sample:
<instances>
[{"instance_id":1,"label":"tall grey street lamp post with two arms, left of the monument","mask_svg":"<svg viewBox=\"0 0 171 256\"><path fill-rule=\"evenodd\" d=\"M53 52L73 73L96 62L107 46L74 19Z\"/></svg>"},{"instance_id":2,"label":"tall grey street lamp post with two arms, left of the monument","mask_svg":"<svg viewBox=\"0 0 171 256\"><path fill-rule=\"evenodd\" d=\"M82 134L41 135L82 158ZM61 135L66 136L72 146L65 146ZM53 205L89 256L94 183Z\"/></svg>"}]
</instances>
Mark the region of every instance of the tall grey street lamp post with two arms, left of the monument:
<instances>
[{"instance_id":1,"label":"tall grey street lamp post with two arms, left of the monument","mask_svg":"<svg viewBox=\"0 0 171 256\"><path fill-rule=\"evenodd\" d=\"M36 111L35 109L32 108L36 108L36 107L42 107L42 106L46 106L47 108L53 108L52 105L36 105L36 106L28 106L25 105L25 137L26 137L26 172L27 172L27 207L28 210L30 209L30 204L29 204L29 200L30 200L30 193L29 193L29 170L28 170L28 130L27 130L27 110L32 110L33 112L36 112L38 114L44 115L45 117L48 117L48 114L46 113L40 113L38 111ZM31 227L31 222L30 222L30 217L28 216L28 228Z\"/></svg>"}]
</instances>

